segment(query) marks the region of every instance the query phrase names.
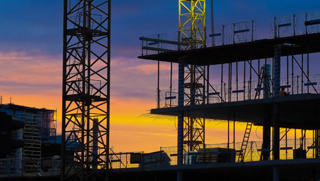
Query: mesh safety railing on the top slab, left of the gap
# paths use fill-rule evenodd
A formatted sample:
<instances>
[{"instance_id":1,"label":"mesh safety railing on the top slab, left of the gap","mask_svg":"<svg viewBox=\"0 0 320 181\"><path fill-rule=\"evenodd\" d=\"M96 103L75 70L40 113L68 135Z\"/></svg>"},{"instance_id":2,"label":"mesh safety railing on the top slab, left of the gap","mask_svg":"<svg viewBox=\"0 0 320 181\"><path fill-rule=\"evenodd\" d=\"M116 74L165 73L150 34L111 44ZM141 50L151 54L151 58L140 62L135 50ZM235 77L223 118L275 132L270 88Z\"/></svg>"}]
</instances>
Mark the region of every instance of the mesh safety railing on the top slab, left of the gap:
<instances>
[{"instance_id":1,"label":"mesh safety railing on the top slab, left of the gap","mask_svg":"<svg viewBox=\"0 0 320 181\"><path fill-rule=\"evenodd\" d=\"M256 20L218 25L206 28L205 35L206 47L250 42L258 39L258 25ZM189 44L184 42L186 38L179 36L179 32L174 33L173 39L173 41L167 40L167 34L140 37L141 56L190 48ZM192 37L187 39L191 41ZM204 46L193 46L193 48L202 47Z\"/></svg>"}]
</instances>

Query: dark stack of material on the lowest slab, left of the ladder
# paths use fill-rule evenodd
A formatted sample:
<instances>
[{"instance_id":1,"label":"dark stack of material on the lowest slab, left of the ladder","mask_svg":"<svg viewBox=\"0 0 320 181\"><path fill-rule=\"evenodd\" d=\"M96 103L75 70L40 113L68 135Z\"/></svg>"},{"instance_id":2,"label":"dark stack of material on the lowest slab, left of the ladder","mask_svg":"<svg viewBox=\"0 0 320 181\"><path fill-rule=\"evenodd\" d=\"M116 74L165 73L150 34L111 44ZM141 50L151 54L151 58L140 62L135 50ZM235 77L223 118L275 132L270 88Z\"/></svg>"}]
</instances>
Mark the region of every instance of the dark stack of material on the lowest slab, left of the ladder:
<instances>
[{"instance_id":1,"label":"dark stack of material on the lowest slab, left of the ladder","mask_svg":"<svg viewBox=\"0 0 320 181\"><path fill-rule=\"evenodd\" d=\"M235 150L229 148L200 148L198 163L235 162Z\"/></svg>"}]
</instances>

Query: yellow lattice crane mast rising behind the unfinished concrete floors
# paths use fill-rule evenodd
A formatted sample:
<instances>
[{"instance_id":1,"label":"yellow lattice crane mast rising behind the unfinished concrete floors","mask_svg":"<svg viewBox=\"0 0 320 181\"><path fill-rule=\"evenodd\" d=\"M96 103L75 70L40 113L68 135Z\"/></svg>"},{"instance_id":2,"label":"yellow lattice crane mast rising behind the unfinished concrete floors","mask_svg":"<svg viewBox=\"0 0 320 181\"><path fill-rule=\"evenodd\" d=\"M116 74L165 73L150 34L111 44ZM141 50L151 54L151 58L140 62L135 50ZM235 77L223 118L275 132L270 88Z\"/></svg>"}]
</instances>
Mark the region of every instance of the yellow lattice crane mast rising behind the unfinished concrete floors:
<instances>
[{"instance_id":1,"label":"yellow lattice crane mast rising behind the unfinished concrete floors","mask_svg":"<svg viewBox=\"0 0 320 181\"><path fill-rule=\"evenodd\" d=\"M186 49L205 47L206 45L206 1L179 0L180 42L188 44ZM205 67L188 65L185 67L185 106L205 104ZM205 119L184 118L185 151L195 151L205 144Z\"/></svg>"}]
</instances>

